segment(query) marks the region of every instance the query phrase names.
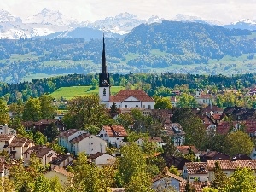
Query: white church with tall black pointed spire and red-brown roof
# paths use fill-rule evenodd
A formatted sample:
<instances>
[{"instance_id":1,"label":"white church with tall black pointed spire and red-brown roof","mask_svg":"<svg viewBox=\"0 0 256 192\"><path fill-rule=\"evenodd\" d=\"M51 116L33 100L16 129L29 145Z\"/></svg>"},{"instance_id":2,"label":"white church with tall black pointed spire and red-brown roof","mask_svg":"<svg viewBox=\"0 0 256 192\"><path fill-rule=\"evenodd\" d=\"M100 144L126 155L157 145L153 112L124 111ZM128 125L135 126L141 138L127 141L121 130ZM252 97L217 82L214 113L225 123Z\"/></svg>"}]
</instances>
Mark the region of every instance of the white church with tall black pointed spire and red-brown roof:
<instances>
[{"instance_id":1,"label":"white church with tall black pointed spire and red-brown roof","mask_svg":"<svg viewBox=\"0 0 256 192\"><path fill-rule=\"evenodd\" d=\"M154 108L154 99L143 90L120 90L115 96L111 96L110 79L107 72L105 38L103 36L102 73L99 74L100 102L110 108L113 102L118 108Z\"/></svg>"}]
</instances>

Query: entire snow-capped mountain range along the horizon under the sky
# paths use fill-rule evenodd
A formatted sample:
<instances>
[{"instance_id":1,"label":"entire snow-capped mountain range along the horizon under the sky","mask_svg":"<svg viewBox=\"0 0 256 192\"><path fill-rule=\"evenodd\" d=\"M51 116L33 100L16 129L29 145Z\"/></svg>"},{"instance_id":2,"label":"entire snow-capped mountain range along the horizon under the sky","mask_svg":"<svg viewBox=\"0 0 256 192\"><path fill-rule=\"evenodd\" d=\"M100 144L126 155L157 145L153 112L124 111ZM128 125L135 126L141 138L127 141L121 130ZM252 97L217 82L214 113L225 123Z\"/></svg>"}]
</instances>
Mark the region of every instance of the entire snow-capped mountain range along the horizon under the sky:
<instances>
[{"instance_id":1,"label":"entire snow-capped mountain range along the horizon under the sky","mask_svg":"<svg viewBox=\"0 0 256 192\"><path fill-rule=\"evenodd\" d=\"M85 38L90 40L90 38L102 38L102 32L105 32L107 37L123 38L140 24L160 23L162 20L165 19L156 15L151 16L148 20L143 20L136 15L121 13L95 22L79 22L61 14L58 10L47 8L36 15L21 20L20 17L15 17L8 11L0 9L0 38ZM176 15L172 21L256 30L256 20L239 20L229 25L222 25L217 20L203 20L189 15Z\"/></svg>"}]
</instances>

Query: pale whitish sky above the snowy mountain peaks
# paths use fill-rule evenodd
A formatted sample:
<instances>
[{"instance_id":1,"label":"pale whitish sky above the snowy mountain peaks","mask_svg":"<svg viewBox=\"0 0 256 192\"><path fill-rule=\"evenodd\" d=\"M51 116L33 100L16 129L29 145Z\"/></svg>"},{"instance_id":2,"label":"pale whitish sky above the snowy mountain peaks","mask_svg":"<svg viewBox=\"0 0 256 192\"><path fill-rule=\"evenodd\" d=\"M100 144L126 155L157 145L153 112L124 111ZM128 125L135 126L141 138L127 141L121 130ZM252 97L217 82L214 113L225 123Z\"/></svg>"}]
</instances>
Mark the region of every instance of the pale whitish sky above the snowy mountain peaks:
<instances>
[{"instance_id":1,"label":"pale whitish sky above the snowy mountain peaks","mask_svg":"<svg viewBox=\"0 0 256 192\"><path fill-rule=\"evenodd\" d=\"M44 8L58 9L77 20L100 20L128 12L142 19L158 15L166 20L177 14L230 23L256 20L256 0L0 0L0 9L22 19Z\"/></svg>"}]
</instances>

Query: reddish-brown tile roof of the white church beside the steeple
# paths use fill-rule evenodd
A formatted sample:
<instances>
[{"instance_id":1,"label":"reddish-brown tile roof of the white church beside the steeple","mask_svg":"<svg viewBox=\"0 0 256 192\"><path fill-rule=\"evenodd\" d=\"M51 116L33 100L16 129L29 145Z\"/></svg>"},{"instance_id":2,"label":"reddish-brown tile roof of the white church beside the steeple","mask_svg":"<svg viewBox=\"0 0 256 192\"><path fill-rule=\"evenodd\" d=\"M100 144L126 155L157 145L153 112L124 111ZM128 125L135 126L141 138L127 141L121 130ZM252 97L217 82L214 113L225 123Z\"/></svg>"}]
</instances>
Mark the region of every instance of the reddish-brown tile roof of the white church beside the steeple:
<instances>
[{"instance_id":1,"label":"reddish-brown tile roof of the white church beside the steeple","mask_svg":"<svg viewBox=\"0 0 256 192\"><path fill-rule=\"evenodd\" d=\"M120 90L115 96L110 96L109 102L124 102L130 96L137 98L140 102L154 102L154 99L144 90Z\"/></svg>"}]
</instances>

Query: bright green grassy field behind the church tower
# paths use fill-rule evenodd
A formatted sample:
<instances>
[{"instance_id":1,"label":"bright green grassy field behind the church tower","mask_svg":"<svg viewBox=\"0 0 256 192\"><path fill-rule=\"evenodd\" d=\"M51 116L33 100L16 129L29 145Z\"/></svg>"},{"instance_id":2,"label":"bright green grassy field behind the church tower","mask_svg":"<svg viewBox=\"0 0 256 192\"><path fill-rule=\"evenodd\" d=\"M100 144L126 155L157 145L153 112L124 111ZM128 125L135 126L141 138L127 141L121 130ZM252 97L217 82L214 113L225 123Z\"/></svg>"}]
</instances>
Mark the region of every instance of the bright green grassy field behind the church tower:
<instances>
[{"instance_id":1,"label":"bright green grassy field behind the church tower","mask_svg":"<svg viewBox=\"0 0 256 192\"><path fill-rule=\"evenodd\" d=\"M111 87L111 94L114 95L119 90L125 89L122 86L113 86ZM58 90L55 90L51 96L54 98L60 99L61 96L63 96L65 99L72 99L75 96L85 96L88 94L98 94L99 93L99 88L92 88L92 86L73 86L73 87L61 87Z\"/></svg>"}]
</instances>

